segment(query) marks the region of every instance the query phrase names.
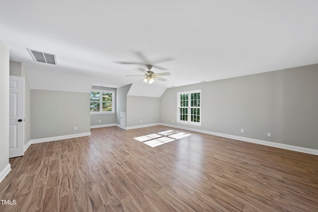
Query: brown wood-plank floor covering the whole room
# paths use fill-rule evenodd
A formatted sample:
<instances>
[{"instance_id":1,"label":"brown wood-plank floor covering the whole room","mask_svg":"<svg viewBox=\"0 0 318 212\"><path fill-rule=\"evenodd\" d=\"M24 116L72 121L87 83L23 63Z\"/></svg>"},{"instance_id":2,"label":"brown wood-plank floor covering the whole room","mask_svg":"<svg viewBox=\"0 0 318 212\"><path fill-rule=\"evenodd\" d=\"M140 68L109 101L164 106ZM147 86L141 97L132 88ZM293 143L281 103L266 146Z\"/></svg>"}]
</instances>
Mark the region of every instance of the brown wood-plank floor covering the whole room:
<instances>
[{"instance_id":1,"label":"brown wood-plank floor covering the whole room","mask_svg":"<svg viewBox=\"0 0 318 212\"><path fill-rule=\"evenodd\" d=\"M168 130L191 136L134 139ZM91 129L32 144L10 164L0 199L16 204L0 212L318 211L317 155L164 126Z\"/></svg>"}]
</instances>

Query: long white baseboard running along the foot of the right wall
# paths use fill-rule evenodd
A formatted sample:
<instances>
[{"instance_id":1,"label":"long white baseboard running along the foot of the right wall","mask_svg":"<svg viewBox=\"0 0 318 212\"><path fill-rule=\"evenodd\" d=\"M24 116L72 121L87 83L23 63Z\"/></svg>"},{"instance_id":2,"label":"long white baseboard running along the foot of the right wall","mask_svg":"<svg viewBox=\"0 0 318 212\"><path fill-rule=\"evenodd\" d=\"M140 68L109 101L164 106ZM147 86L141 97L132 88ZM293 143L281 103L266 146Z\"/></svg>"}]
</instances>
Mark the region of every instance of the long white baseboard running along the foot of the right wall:
<instances>
[{"instance_id":1,"label":"long white baseboard running along the foot of the right wall","mask_svg":"<svg viewBox=\"0 0 318 212\"><path fill-rule=\"evenodd\" d=\"M163 125L166 127L182 129L182 130L193 131L193 132L197 132L197 133L213 135L213 136L220 136L220 137L229 138L229 139L235 139L235 140L239 140L239 141L258 143L258 144L262 144L262 145L266 145L266 146L272 146L272 147L288 149L288 150L292 150L292 151L299 151L299 152L304 152L304 153L308 153L308 154L318 155L318 149L311 149L311 148L305 148L305 147L301 147L301 146L294 146L294 145L289 145L289 144L284 144L284 143L276 143L276 142L271 142L271 141L263 141L263 140L258 140L258 139L250 139L250 138L245 138L245 137L240 137L240 136L233 136L233 135L228 135L228 134L223 134L223 133L216 133L216 132L211 132L211 131L198 130L198 129L193 129L193 128L180 127L180 126L176 126L176 125L163 124L163 123L160 123L160 125Z\"/></svg>"}]
</instances>

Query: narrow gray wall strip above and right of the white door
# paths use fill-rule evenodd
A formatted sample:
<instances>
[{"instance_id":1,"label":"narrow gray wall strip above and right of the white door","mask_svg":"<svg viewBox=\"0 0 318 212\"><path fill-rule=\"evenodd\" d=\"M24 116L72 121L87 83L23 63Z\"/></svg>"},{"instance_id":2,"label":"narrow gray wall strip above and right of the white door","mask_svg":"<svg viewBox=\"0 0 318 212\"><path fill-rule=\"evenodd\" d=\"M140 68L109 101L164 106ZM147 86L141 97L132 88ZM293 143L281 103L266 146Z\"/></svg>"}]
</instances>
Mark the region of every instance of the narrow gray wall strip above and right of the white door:
<instances>
[{"instance_id":1,"label":"narrow gray wall strip above and right of the white door","mask_svg":"<svg viewBox=\"0 0 318 212\"><path fill-rule=\"evenodd\" d=\"M10 61L10 75L24 77L24 144L31 140L31 90L25 66L20 62Z\"/></svg>"}]
</instances>

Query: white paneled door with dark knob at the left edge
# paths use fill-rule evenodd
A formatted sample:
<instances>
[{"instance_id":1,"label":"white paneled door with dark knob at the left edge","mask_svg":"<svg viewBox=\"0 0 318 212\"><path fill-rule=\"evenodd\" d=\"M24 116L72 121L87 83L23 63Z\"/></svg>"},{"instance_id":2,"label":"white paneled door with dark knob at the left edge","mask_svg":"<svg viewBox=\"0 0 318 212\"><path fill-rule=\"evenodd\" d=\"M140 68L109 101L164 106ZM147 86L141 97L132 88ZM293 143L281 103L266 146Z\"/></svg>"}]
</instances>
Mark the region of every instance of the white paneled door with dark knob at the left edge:
<instances>
[{"instance_id":1,"label":"white paneled door with dark knob at the left edge","mask_svg":"<svg viewBox=\"0 0 318 212\"><path fill-rule=\"evenodd\" d=\"M24 155L24 77L10 76L9 157Z\"/></svg>"}]
</instances>

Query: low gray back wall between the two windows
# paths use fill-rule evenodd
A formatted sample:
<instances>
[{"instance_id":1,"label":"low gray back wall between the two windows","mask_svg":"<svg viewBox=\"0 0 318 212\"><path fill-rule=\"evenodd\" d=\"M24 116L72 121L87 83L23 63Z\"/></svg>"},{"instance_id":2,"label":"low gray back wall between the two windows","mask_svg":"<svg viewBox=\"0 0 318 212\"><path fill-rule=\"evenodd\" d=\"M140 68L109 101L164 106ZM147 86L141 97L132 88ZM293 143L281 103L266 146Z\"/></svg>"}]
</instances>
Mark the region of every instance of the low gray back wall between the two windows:
<instances>
[{"instance_id":1,"label":"low gray back wall between the two windows","mask_svg":"<svg viewBox=\"0 0 318 212\"><path fill-rule=\"evenodd\" d=\"M127 96L126 122L126 127L159 123L160 98Z\"/></svg>"}]
</instances>

